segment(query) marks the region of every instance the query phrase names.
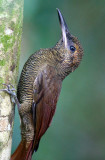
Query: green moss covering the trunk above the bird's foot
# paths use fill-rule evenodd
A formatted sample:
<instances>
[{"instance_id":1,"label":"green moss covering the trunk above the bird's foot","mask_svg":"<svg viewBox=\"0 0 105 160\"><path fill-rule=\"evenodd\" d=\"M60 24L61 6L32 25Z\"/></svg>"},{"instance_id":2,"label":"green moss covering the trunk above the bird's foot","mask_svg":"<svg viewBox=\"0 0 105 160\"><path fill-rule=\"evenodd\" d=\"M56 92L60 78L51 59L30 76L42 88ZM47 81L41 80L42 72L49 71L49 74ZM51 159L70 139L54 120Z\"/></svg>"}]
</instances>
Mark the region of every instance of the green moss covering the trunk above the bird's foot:
<instances>
[{"instance_id":1,"label":"green moss covering the trunk above the bird's foot","mask_svg":"<svg viewBox=\"0 0 105 160\"><path fill-rule=\"evenodd\" d=\"M1 0L0 0L1 1ZM19 3L18 3L19 2ZM21 3L21 5L20 5ZM9 4L9 3L8 3ZM19 69L19 58L20 58L20 46L21 46L21 34L22 34L22 24L23 24L23 9L21 7L15 7L15 5L23 6L23 0L16 0L13 4L8 6L10 11L7 12L6 23L3 21L2 25L0 25L0 34L2 35L0 38L0 43L3 45L2 52L5 54L5 61L0 61L0 66L4 66L7 60L11 61L10 66L12 64L16 64L16 68L14 71L18 73ZM7 6L5 6L7 7ZM3 14L3 13L2 13ZM11 35L7 35L5 33L6 28L9 28L13 31ZM11 54L8 57L8 54ZM14 58L15 57L15 58ZM5 71L8 71L8 66L5 66ZM13 72L13 74L15 73ZM17 79L17 77L16 77ZM2 82L2 80L0 80ZM11 78L12 81L12 78Z\"/></svg>"}]
</instances>

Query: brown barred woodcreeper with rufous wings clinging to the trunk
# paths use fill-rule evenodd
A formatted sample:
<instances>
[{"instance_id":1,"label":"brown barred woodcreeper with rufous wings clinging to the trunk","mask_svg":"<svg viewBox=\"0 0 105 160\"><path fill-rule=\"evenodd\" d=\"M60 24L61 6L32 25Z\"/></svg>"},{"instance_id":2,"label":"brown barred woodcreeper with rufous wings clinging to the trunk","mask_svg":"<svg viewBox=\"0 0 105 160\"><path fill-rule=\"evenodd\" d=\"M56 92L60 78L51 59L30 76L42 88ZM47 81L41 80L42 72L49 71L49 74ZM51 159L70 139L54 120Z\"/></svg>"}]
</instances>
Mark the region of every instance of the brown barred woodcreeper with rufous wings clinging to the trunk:
<instances>
[{"instance_id":1,"label":"brown barred woodcreeper with rufous wings clinging to the trunk","mask_svg":"<svg viewBox=\"0 0 105 160\"><path fill-rule=\"evenodd\" d=\"M15 101L21 120L21 142L11 160L31 160L54 116L63 80L80 64L82 46L57 8L61 37L56 45L40 49L26 61ZM10 90L8 91L8 93ZM11 93L10 93L11 94Z\"/></svg>"}]
</instances>

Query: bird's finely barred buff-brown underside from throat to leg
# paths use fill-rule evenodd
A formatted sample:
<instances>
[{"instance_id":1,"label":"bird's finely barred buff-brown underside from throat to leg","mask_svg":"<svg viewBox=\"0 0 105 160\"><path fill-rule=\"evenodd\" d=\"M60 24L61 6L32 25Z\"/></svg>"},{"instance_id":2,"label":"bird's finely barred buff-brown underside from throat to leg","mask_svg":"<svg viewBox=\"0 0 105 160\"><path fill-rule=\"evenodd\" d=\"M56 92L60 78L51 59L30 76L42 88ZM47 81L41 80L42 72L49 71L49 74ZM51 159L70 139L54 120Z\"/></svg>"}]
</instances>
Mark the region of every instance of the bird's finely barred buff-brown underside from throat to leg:
<instances>
[{"instance_id":1,"label":"bird's finely barred buff-brown underside from throat to leg","mask_svg":"<svg viewBox=\"0 0 105 160\"><path fill-rule=\"evenodd\" d=\"M17 87L17 97L20 103L32 101L33 83L38 73L46 65L55 67L55 63L56 59L53 55L53 49L40 49L29 57L23 67Z\"/></svg>"}]
</instances>

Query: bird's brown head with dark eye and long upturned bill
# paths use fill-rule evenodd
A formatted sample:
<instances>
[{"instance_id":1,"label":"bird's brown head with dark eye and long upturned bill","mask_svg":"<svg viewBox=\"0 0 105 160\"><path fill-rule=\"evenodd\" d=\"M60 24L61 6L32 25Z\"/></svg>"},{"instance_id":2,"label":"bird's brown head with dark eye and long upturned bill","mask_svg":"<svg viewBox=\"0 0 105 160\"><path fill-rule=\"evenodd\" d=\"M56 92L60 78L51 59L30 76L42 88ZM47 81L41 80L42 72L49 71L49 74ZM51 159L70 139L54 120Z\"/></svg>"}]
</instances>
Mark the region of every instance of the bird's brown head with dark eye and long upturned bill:
<instances>
[{"instance_id":1,"label":"bird's brown head with dark eye and long upturned bill","mask_svg":"<svg viewBox=\"0 0 105 160\"><path fill-rule=\"evenodd\" d=\"M70 34L67 24L64 20L59 9L57 9L59 22L61 26L62 38L58 42L57 47L61 48L61 54L63 55L62 65L67 67L67 74L73 72L83 56L83 49L80 45L79 40Z\"/></svg>"}]
</instances>

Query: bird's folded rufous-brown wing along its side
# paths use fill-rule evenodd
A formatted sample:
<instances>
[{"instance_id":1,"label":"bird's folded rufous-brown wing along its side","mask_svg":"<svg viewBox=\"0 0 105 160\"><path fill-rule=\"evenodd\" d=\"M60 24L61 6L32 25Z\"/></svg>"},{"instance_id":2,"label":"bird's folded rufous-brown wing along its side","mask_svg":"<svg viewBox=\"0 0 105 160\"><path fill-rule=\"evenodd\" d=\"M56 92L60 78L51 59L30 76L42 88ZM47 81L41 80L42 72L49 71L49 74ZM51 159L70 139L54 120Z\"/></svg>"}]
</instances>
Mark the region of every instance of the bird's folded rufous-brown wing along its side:
<instances>
[{"instance_id":1,"label":"bird's folded rufous-brown wing along its side","mask_svg":"<svg viewBox=\"0 0 105 160\"><path fill-rule=\"evenodd\" d=\"M46 66L36 77L33 85L33 121L35 138L33 149L36 151L40 138L49 127L56 109L61 90L61 80L53 67Z\"/></svg>"}]
</instances>

